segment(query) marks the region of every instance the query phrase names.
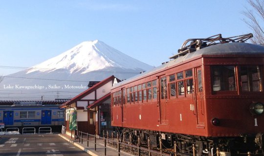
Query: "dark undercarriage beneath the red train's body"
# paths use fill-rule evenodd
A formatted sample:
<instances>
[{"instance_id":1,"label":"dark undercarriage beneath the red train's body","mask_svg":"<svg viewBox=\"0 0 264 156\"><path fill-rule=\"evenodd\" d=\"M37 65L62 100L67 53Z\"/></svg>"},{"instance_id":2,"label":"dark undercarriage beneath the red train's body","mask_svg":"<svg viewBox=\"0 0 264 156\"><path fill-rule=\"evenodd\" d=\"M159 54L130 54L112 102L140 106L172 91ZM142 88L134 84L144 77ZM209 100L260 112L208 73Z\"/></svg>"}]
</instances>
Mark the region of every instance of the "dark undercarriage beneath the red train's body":
<instances>
[{"instance_id":1,"label":"dark undercarriage beneath the red train's body","mask_svg":"<svg viewBox=\"0 0 264 156\"><path fill-rule=\"evenodd\" d=\"M127 142L163 149L172 156L264 156L264 134L202 137L128 128L118 131Z\"/></svg>"}]
</instances>

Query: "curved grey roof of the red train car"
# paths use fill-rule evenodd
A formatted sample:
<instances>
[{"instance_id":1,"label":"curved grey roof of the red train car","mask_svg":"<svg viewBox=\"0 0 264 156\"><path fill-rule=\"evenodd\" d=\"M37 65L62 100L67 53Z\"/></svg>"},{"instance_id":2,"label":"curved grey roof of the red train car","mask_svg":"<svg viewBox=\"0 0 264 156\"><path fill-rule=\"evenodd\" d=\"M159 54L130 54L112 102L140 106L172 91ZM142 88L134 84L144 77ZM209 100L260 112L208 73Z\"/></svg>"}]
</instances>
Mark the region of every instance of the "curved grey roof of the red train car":
<instances>
[{"instance_id":1,"label":"curved grey roof of the red train car","mask_svg":"<svg viewBox=\"0 0 264 156\"><path fill-rule=\"evenodd\" d=\"M199 58L203 56L238 56L238 55L264 55L264 46L262 45L256 45L256 44L250 44L250 43L244 43L244 42L231 42L231 43L221 43L221 44L215 44L208 47L204 47L202 49L196 50L191 53L187 53L183 56L175 55L174 57L171 57L171 61L163 63L162 65L150 70L143 72L139 75L136 75L132 78L128 78L124 81L121 81L114 85L112 89L117 88L123 84L132 82L136 79L143 78L147 75L152 75L160 70L169 68L173 65L179 64L181 62ZM177 57L176 57L177 56Z\"/></svg>"}]
</instances>

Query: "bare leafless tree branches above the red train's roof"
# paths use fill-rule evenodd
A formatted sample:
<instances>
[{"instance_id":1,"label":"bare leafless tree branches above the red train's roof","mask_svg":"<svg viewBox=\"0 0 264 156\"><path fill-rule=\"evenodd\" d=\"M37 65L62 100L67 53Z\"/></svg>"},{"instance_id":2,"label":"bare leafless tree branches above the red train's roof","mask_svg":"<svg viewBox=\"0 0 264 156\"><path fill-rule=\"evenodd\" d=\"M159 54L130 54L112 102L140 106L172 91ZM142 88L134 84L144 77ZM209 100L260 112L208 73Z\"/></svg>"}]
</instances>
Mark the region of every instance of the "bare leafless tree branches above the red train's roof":
<instances>
[{"instance_id":1,"label":"bare leafless tree branches above the red train's roof","mask_svg":"<svg viewBox=\"0 0 264 156\"><path fill-rule=\"evenodd\" d=\"M264 0L247 0L250 8L245 8L242 14L246 17L243 21L253 31L254 38L251 42L264 45L264 28L261 23L264 22Z\"/></svg>"}]
</instances>

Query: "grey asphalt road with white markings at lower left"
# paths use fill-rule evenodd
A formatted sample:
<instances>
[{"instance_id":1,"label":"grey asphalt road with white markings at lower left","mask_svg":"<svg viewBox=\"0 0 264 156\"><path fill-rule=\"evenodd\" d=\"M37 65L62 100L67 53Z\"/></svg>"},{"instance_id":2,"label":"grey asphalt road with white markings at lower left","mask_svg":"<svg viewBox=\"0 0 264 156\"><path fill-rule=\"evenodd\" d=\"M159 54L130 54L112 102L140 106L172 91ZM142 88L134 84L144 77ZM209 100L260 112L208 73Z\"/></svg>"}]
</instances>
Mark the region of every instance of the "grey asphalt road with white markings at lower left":
<instances>
[{"instance_id":1,"label":"grey asphalt road with white markings at lower left","mask_svg":"<svg viewBox=\"0 0 264 156\"><path fill-rule=\"evenodd\" d=\"M90 156L56 134L0 136L0 156Z\"/></svg>"}]
</instances>

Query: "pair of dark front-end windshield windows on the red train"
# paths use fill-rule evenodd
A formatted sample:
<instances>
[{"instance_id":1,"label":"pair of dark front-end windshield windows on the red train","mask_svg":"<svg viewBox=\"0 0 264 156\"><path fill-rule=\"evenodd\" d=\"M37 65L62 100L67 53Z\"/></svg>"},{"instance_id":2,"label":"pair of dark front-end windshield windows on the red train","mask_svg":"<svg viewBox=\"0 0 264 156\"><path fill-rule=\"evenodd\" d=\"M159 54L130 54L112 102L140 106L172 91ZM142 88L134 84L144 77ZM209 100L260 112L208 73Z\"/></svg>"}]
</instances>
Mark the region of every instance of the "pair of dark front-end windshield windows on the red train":
<instances>
[{"instance_id":1,"label":"pair of dark front-end windshield windows on the red train","mask_svg":"<svg viewBox=\"0 0 264 156\"><path fill-rule=\"evenodd\" d=\"M211 77L213 91L237 91L237 86L242 92L263 91L262 70L259 65L214 65L211 66ZM237 81L240 85L236 84Z\"/></svg>"}]
</instances>

